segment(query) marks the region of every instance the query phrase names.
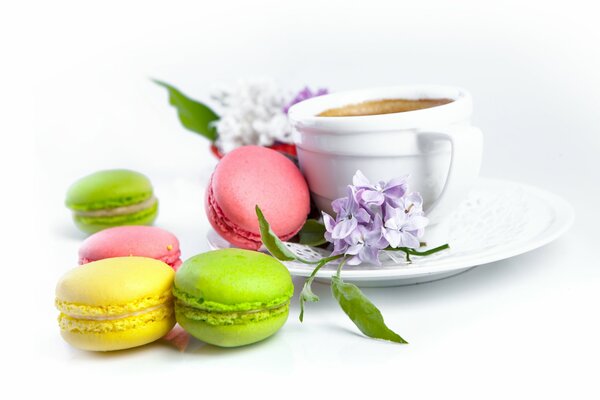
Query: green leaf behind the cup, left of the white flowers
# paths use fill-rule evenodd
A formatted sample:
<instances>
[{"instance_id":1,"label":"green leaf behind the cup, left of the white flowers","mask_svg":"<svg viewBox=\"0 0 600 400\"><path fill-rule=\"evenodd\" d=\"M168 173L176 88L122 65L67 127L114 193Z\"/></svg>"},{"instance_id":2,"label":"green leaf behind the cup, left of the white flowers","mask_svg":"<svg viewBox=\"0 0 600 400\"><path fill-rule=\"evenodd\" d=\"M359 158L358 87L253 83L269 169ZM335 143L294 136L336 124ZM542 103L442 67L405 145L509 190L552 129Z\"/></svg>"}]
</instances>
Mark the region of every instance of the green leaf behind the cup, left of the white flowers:
<instances>
[{"instance_id":1,"label":"green leaf behind the cup, left of the white flowers","mask_svg":"<svg viewBox=\"0 0 600 400\"><path fill-rule=\"evenodd\" d=\"M154 80L154 82L169 92L169 103L177 109L179 121L192 132L196 132L214 142L217 139L217 130L213 122L219 119L219 116L208 106L192 100L173 86Z\"/></svg>"}]
</instances>

